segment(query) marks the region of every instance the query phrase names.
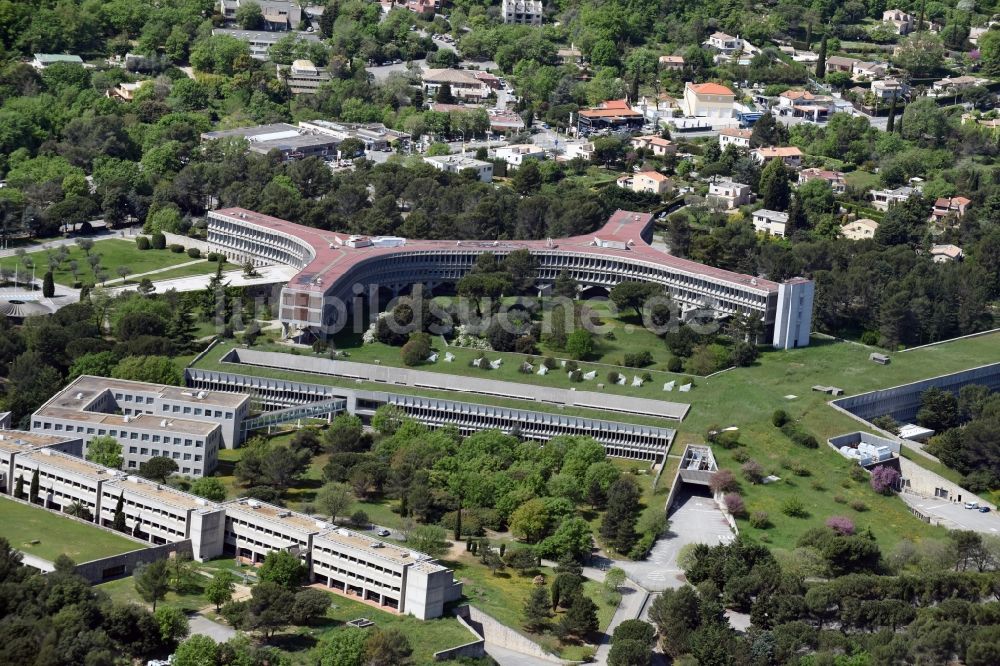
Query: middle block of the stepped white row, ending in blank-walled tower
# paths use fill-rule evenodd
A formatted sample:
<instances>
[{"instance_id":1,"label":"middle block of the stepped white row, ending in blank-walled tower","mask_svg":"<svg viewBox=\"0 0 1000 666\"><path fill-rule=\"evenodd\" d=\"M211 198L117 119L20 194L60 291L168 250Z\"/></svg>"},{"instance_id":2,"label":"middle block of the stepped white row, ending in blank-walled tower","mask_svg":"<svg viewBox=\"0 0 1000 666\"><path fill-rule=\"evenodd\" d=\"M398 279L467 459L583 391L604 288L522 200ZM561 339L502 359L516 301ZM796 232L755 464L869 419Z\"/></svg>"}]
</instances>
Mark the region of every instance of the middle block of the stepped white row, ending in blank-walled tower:
<instances>
[{"instance_id":1,"label":"middle block of the stepped white row, ending in blank-walled tower","mask_svg":"<svg viewBox=\"0 0 1000 666\"><path fill-rule=\"evenodd\" d=\"M210 560L223 551L226 513L221 505L137 476L118 474L101 485L98 524L114 524L122 502L125 527L152 544L191 540L194 559Z\"/></svg>"}]
</instances>

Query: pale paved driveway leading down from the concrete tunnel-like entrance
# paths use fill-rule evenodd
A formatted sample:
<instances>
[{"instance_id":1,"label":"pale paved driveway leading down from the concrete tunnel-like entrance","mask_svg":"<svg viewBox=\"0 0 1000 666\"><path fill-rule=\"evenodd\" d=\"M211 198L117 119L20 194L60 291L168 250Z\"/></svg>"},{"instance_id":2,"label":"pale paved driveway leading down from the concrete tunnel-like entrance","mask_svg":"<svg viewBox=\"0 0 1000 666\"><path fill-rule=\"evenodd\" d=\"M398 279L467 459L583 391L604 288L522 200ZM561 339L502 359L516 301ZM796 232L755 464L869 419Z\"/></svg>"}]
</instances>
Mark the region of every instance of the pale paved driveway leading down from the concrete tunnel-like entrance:
<instances>
[{"instance_id":1,"label":"pale paved driveway leading down from the concrete tunnel-like entrance","mask_svg":"<svg viewBox=\"0 0 1000 666\"><path fill-rule=\"evenodd\" d=\"M714 546L729 543L733 532L715 500L705 495L692 494L682 489L674 500L674 511L670 514L670 530L661 537L649 557L641 562L619 562L630 580L651 592L680 587L683 571L677 564L681 548L689 543L704 543Z\"/></svg>"}]
</instances>

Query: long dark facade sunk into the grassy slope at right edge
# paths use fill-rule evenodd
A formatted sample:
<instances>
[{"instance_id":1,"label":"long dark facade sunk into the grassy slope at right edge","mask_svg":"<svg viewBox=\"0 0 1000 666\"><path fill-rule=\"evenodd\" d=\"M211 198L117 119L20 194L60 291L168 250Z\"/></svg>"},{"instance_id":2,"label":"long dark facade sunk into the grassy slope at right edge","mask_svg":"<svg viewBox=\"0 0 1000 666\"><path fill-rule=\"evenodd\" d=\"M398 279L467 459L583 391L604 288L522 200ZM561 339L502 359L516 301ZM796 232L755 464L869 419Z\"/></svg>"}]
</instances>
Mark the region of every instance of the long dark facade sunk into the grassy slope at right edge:
<instances>
[{"instance_id":1,"label":"long dark facade sunk into the grassy slope at right edge","mask_svg":"<svg viewBox=\"0 0 1000 666\"><path fill-rule=\"evenodd\" d=\"M963 386L969 384L983 384L992 391L1000 390L1000 363L852 395L834 400L831 404L865 421L889 414L900 423L912 423L920 409L921 393L934 386L958 394Z\"/></svg>"}]
</instances>

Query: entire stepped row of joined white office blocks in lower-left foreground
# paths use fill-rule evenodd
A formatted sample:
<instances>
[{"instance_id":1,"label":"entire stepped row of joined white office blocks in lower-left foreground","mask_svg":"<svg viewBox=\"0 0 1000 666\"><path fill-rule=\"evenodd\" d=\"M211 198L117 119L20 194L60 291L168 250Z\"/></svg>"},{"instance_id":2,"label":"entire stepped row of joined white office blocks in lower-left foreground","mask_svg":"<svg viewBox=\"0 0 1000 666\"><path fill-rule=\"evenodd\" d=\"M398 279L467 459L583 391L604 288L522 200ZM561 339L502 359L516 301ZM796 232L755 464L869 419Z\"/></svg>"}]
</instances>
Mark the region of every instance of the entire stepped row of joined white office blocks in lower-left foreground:
<instances>
[{"instance_id":1,"label":"entire stepped row of joined white office blocks in lower-left foreground","mask_svg":"<svg viewBox=\"0 0 1000 666\"><path fill-rule=\"evenodd\" d=\"M451 570L424 553L257 500L218 504L64 452L80 446L79 438L4 431L0 462L12 470L4 494L14 496L20 478L19 499L53 511L74 506L79 519L109 529L121 512L133 537L153 545L190 541L199 561L228 553L258 564L288 551L308 566L310 580L421 620L440 617L462 596Z\"/></svg>"}]
</instances>

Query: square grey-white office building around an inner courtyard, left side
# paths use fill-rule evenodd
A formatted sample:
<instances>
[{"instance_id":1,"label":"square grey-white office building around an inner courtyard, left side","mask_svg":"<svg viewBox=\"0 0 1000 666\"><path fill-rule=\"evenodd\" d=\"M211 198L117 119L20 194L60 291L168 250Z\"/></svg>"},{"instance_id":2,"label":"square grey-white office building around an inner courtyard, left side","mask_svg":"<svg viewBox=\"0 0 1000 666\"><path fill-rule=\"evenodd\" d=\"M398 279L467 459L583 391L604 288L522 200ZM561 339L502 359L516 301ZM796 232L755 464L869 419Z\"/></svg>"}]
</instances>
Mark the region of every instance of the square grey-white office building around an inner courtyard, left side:
<instances>
[{"instance_id":1,"label":"square grey-white office building around an inner courtyard, left side","mask_svg":"<svg viewBox=\"0 0 1000 666\"><path fill-rule=\"evenodd\" d=\"M113 437L126 470L166 457L197 477L215 469L220 448L241 443L249 412L247 395L83 375L31 416L31 430L79 437L84 452L94 437Z\"/></svg>"}]
</instances>

